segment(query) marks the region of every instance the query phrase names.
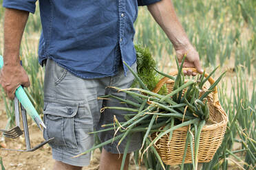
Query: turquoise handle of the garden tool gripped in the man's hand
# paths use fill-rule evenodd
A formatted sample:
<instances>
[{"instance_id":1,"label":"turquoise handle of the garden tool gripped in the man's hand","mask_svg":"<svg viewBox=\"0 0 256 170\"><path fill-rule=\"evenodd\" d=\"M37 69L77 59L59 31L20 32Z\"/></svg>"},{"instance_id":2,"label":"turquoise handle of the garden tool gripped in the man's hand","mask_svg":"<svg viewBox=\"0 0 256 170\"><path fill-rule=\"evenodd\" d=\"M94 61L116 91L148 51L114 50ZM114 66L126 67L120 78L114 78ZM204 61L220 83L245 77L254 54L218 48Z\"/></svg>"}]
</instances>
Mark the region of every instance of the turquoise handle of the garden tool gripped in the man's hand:
<instances>
[{"instance_id":1,"label":"turquoise handle of the garden tool gripped in the man's hand","mask_svg":"<svg viewBox=\"0 0 256 170\"><path fill-rule=\"evenodd\" d=\"M0 56L0 69L2 67L3 57ZM17 90L15 91L15 96L17 97L19 102L21 102L21 105L25 108L25 110L28 112L33 121L36 122L36 125L40 128L40 130L42 130L40 125L42 125L46 129L45 124L43 123L41 117L39 117L39 114L36 112L36 109L32 105L30 99L28 99L28 95L25 94L25 91L22 88L22 86L19 86L19 88L17 88Z\"/></svg>"}]
</instances>

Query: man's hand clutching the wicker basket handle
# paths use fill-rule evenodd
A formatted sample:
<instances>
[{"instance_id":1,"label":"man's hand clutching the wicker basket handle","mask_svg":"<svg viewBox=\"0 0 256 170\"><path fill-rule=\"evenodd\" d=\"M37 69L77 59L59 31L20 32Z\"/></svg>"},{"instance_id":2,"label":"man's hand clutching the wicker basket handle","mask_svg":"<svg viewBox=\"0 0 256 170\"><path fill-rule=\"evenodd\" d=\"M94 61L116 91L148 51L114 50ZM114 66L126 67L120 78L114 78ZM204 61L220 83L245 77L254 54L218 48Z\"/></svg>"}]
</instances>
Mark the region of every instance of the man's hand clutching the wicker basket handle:
<instances>
[{"instance_id":1,"label":"man's hand clutching the wicker basket handle","mask_svg":"<svg viewBox=\"0 0 256 170\"><path fill-rule=\"evenodd\" d=\"M185 68L195 68L199 73L203 72L203 69L200 64L200 59L198 55L198 51L195 50L195 48L192 45L186 45L185 47L182 47L180 49L176 49L177 58L179 61L179 64L182 62L182 58L186 56L184 60L183 67ZM193 75L195 76L196 73L192 70L183 71L184 75Z\"/></svg>"}]
</instances>

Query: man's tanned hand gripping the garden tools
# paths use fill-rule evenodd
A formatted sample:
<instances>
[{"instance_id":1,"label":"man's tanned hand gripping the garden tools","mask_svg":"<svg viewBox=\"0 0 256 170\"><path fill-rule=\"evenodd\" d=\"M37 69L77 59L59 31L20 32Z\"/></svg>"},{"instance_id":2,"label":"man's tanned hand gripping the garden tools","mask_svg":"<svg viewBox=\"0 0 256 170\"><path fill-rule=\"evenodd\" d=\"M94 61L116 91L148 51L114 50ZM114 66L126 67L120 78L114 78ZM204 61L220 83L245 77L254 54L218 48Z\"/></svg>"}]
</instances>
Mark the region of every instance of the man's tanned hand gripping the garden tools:
<instances>
[{"instance_id":1,"label":"man's tanned hand gripping the garden tools","mask_svg":"<svg viewBox=\"0 0 256 170\"><path fill-rule=\"evenodd\" d=\"M15 90L23 85L30 86L28 75L20 64L3 65L0 72L0 84L9 99L14 99Z\"/></svg>"}]
</instances>

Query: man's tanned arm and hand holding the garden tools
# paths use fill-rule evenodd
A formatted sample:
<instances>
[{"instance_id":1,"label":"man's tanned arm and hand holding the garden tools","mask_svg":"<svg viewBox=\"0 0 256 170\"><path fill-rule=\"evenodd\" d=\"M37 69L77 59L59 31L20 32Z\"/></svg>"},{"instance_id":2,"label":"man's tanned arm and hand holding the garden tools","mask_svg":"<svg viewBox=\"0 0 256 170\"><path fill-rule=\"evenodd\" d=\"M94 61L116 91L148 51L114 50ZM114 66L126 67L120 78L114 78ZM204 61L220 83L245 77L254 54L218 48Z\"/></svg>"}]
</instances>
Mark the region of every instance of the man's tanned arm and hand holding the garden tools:
<instances>
[{"instance_id":1,"label":"man's tanned arm and hand holding the garden tools","mask_svg":"<svg viewBox=\"0 0 256 170\"><path fill-rule=\"evenodd\" d=\"M29 12L6 8L4 16L3 69L0 83L8 98L13 99L20 86L30 86L28 75L20 64L19 49Z\"/></svg>"}]
</instances>

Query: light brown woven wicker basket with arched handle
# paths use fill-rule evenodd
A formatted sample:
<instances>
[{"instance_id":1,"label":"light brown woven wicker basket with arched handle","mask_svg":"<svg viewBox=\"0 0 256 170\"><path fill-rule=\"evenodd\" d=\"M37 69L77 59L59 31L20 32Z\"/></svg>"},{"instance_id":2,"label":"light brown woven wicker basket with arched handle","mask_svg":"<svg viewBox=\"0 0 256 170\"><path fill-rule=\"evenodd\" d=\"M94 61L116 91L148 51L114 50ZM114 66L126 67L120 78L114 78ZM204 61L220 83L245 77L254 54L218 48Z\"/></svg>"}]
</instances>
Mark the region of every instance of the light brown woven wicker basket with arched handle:
<instances>
[{"instance_id":1,"label":"light brown woven wicker basket with arched handle","mask_svg":"<svg viewBox=\"0 0 256 170\"><path fill-rule=\"evenodd\" d=\"M187 68L185 70L187 70ZM196 71L195 69L192 70ZM177 75L177 71L171 73L171 75ZM205 77L206 76L208 76L208 74L205 74ZM209 82L210 84L213 84L214 80L210 78ZM158 91L164 84L167 84L167 88L170 93L173 89L174 82L173 80L169 80L169 78L167 77L164 77L162 80L160 80L160 82L158 82L153 92L158 93ZM204 87L202 94L205 91L206 88ZM215 152L222 143L222 139L226 131L226 124L228 122L228 117L226 116L226 113L224 112L222 106L220 106L220 102L217 97L217 87L212 93L210 93L207 98L209 101L208 104L210 110L209 119L214 123L206 123L206 125L204 125L204 127L202 128L198 151L198 162L209 162L213 158ZM166 165L179 165L182 163L186 142L186 133L188 128L189 127L181 127L177 130L174 130L171 141L169 141L169 136L165 135L162 136L162 138L160 138L160 140L156 143L155 147L158 151L158 154ZM156 138L157 135L157 133L153 133L151 135L151 138ZM195 149L193 150L195 151ZM191 162L191 149L189 145L186 151L185 163Z\"/></svg>"}]
</instances>

